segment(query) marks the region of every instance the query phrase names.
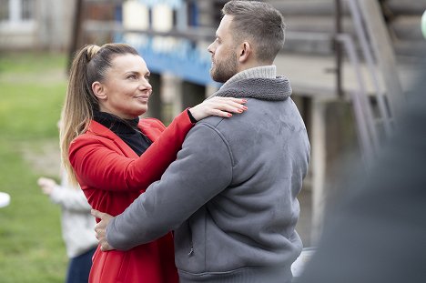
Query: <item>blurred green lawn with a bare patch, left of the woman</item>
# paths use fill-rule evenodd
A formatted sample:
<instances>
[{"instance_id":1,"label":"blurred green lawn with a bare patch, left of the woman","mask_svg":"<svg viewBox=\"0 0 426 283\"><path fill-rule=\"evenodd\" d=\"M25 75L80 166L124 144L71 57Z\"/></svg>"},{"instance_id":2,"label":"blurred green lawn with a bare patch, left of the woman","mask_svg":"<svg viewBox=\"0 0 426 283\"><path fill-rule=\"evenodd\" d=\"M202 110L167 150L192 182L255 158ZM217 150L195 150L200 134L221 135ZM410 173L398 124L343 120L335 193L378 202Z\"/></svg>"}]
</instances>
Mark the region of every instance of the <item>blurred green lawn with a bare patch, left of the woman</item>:
<instances>
[{"instance_id":1,"label":"blurred green lawn with a bare patch, left of the woman","mask_svg":"<svg viewBox=\"0 0 426 283\"><path fill-rule=\"evenodd\" d=\"M66 92L66 56L0 56L0 275L4 283L64 282L60 208L35 182L59 172L56 121Z\"/></svg>"}]
</instances>

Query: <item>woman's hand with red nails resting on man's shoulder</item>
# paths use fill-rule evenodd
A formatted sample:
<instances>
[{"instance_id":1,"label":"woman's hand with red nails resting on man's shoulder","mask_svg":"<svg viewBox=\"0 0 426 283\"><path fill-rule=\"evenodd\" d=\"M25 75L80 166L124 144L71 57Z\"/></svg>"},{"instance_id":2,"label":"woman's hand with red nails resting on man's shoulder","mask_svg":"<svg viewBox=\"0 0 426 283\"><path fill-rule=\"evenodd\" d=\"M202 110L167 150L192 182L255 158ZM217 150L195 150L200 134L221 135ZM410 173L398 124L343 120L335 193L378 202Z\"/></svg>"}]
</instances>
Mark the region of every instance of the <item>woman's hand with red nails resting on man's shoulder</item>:
<instances>
[{"instance_id":1,"label":"woman's hand with red nails resting on man's shoulder","mask_svg":"<svg viewBox=\"0 0 426 283\"><path fill-rule=\"evenodd\" d=\"M243 113L248 108L244 106L246 99L234 97L214 96L189 109L191 115L197 120L208 116L230 117L232 113Z\"/></svg>"}]
</instances>

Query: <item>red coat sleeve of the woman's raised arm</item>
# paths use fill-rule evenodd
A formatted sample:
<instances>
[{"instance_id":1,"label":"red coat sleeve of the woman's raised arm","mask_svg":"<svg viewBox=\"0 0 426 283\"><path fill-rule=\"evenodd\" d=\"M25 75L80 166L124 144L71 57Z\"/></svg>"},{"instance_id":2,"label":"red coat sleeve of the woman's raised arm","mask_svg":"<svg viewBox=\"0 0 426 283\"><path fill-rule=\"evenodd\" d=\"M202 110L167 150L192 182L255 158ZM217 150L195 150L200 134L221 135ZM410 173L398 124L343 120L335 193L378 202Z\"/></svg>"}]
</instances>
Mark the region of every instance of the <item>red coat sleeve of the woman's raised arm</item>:
<instances>
[{"instance_id":1,"label":"red coat sleeve of the woman's raised arm","mask_svg":"<svg viewBox=\"0 0 426 283\"><path fill-rule=\"evenodd\" d=\"M148 137L149 133L164 131L141 157L125 157L117 143L105 136L84 134L76 137L69 149L69 160L82 187L145 191L161 177L176 159L193 124L187 111L177 116L167 128L156 119L146 120L144 127Z\"/></svg>"}]
</instances>

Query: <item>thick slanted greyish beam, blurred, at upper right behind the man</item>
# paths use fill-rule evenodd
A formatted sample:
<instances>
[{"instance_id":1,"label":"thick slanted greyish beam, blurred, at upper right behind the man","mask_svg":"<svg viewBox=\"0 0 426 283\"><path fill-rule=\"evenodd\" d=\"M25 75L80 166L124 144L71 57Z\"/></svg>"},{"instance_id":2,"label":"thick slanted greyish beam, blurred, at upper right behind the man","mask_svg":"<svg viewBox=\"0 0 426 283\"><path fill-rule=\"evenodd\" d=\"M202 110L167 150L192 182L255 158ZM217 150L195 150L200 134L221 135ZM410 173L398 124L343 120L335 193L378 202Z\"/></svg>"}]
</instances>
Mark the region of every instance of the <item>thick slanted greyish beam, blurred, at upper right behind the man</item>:
<instances>
[{"instance_id":1,"label":"thick slanted greyish beam, blurred, at upper right behind the man","mask_svg":"<svg viewBox=\"0 0 426 283\"><path fill-rule=\"evenodd\" d=\"M391 116L399 116L405 102L397 71L391 38L381 13L379 1L359 0L361 14L367 26L374 55L385 83Z\"/></svg>"}]
</instances>

